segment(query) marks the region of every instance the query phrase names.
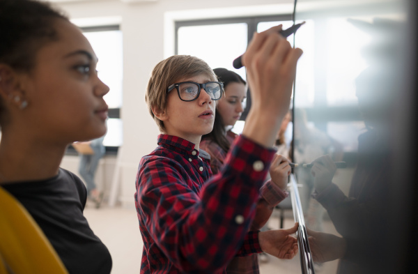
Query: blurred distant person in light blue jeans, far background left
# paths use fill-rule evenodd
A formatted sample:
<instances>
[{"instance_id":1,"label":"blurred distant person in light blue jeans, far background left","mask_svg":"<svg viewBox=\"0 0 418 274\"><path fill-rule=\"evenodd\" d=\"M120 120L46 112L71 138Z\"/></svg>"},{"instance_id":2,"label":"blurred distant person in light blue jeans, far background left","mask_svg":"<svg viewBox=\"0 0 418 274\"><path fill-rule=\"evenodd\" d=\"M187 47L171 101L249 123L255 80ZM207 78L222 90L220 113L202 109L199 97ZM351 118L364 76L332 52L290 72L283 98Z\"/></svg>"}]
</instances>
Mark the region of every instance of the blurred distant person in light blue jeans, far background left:
<instances>
[{"instance_id":1,"label":"blurred distant person in light blue jeans, far background left","mask_svg":"<svg viewBox=\"0 0 418 274\"><path fill-rule=\"evenodd\" d=\"M82 176L84 183L86 183L88 199L93 201L96 208L100 208L103 199L103 191L98 190L94 178L99 161L106 151L103 139L104 136L88 142L73 144L80 154L79 174Z\"/></svg>"}]
</instances>

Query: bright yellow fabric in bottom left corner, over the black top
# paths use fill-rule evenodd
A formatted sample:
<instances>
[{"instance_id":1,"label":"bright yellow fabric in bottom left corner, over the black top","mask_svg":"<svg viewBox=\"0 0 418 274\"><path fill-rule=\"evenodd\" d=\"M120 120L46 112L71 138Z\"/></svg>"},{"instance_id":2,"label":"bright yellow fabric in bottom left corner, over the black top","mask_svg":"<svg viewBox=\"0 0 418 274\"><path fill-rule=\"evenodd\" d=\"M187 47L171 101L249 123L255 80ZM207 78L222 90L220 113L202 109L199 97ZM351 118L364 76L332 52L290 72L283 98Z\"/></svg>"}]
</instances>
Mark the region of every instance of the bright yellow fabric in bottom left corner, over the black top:
<instances>
[{"instance_id":1,"label":"bright yellow fabric in bottom left corner, over the black top","mask_svg":"<svg viewBox=\"0 0 418 274\"><path fill-rule=\"evenodd\" d=\"M0 187L0 274L68 274L38 224Z\"/></svg>"}]
</instances>

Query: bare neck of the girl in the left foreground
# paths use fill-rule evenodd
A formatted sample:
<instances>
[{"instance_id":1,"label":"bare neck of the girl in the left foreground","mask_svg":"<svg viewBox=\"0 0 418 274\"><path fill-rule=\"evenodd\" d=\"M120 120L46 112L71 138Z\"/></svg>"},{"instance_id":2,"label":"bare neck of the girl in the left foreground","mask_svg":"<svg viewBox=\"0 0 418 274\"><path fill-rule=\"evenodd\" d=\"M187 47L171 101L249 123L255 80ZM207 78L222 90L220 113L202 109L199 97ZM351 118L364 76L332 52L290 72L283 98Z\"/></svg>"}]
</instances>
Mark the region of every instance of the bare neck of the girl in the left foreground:
<instances>
[{"instance_id":1,"label":"bare neck of the girl in the left foreground","mask_svg":"<svg viewBox=\"0 0 418 274\"><path fill-rule=\"evenodd\" d=\"M66 145L20 136L6 132L1 136L0 184L42 180L58 174Z\"/></svg>"}]
</instances>

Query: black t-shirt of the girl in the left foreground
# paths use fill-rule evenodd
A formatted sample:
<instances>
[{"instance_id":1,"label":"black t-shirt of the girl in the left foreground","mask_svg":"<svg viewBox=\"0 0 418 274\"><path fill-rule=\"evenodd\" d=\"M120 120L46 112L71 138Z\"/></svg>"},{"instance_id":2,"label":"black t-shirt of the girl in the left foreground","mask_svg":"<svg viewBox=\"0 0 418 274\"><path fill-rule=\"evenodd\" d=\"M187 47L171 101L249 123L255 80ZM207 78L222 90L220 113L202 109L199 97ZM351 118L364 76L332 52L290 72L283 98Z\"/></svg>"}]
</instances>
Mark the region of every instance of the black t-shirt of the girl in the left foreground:
<instances>
[{"instance_id":1,"label":"black t-shirt of the girl in the left foreground","mask_svg":"<svg viewBox=\"0 0 418 274\"><path fill-rule=\"evenodd\" d=\"M110 273L109 250L84 218L86 187L75 174L59 169L47 180L1 186L29 211L69 273Z\"/></svg>"}]
</instances>

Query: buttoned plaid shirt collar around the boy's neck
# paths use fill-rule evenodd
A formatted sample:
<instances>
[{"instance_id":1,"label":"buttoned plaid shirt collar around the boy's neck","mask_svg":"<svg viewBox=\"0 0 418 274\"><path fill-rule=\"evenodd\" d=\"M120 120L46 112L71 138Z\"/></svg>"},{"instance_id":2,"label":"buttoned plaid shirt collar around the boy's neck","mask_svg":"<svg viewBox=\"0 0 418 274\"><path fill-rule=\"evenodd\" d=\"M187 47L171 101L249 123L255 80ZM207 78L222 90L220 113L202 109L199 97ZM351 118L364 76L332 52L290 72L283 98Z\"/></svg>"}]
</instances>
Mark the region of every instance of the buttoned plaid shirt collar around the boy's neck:
<instances>
[{"instance_id":1,"label":"buttoned plaid shirt collar around the boy's neck","mask_svg":"<svg viewBox=\"0 0 418 274\"><path fill-rule=\"evenodd\" d=\"M165 149L171 149L183 155L193 157L200 156L203 159L210 160L209 153L201 149L197 151L194 149L195 144L177 136L160 134L158 135L157 144L164 147Z\"/></svg>"}]
</instances>

